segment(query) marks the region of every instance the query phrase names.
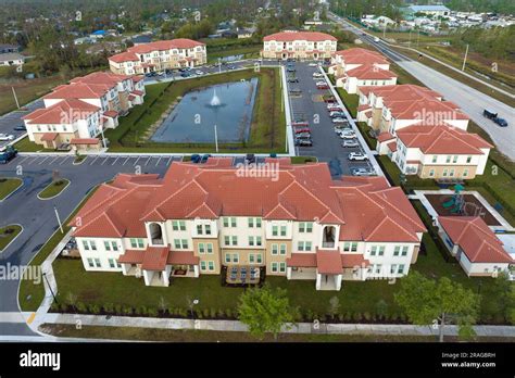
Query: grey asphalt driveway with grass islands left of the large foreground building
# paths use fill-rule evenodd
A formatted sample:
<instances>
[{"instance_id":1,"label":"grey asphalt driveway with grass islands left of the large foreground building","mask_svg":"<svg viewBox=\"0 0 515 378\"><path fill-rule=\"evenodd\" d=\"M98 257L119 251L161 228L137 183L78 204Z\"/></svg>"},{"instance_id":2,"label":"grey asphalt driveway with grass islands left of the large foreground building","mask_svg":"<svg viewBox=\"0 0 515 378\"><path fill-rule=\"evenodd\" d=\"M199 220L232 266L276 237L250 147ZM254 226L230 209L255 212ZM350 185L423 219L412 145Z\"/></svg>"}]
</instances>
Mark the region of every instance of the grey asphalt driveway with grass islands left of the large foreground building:
<instances>
[{"instance_id":1,"label":"grey asphalt driveway with grass islands left of the large foreground building","mask_svg":"<svg viewBox=\"0 0 515 378\"><path fill-rule=\"evenodd\" d=\"M53 211L58 209L62 220L66 219L80 203L89 190L113 178L117 173L164 174L173 160L179 158L105 158L88 156L83 164L73 165L73 156L17 156L7 165L0 165L0 175L16 176L22 169L23 187L12 197L0 202L0 227L21 224L23 232L0 254L0 266L8 263L26 265L58 229L59 224ZM59 171L61 177L71 180L71 185L55 199L41 201L37 198L52 179L52 172ZM0 280L0 313L16 312L17 279ZM33 335L21 324L1 323L0 335Z\"/></svg>"}]
</instances>

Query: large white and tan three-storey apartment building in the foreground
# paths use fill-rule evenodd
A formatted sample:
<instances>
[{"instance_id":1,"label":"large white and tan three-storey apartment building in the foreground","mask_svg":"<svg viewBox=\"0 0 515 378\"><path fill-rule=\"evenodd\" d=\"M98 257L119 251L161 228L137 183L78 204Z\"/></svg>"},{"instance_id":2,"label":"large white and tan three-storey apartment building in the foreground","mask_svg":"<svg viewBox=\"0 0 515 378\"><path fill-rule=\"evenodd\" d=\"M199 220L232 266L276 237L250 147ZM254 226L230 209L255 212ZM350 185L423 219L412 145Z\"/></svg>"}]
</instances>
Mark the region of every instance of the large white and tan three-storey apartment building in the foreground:
<instances>
[{"instance_id":1,"label":"large white and tan three-storey apartment building in the foreground","mask_svg":"<svg viewBox=\"0 0 515 378\"><path fill-rule=\"evenodd\" d=\"M409 273L426 229L400 188L384 177L334 180L325 163L266 164L269 177L244 175L231 159L174 162L163 178L116 176L72 223L85 269L168 286L248 266L317 290Z\"/></svg>"}]
</instances>

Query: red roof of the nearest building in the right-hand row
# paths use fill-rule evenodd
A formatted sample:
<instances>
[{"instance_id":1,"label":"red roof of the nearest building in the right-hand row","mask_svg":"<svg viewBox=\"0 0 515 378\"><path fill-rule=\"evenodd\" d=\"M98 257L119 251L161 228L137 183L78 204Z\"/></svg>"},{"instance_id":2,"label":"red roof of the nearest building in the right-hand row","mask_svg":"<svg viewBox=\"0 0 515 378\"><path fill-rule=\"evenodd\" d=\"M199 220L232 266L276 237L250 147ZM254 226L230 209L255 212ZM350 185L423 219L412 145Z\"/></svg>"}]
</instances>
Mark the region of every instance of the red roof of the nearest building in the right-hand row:
<instances>
[{"instance_id":1,"label":"red roof of the nearest building in the right-hand row","mask_svg":"<svg viewBox=\"0 0 515 378\"><path fill-rule=\"evenodd\" d=\"M483 154L480 149L493 148L477 134L450 126L407 126L397 136L404 146L427 154Z\"/></svg>"}]
</instances>

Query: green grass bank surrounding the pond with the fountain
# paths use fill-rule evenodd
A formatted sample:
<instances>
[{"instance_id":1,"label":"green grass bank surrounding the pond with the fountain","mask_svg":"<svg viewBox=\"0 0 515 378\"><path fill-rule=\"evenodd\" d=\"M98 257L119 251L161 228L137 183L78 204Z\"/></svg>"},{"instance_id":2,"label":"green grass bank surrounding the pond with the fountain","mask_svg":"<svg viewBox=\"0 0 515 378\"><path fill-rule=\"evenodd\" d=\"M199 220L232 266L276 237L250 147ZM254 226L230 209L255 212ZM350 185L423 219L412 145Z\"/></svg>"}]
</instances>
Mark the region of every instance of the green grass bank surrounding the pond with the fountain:
<instances>
[{"instance_id":1,"label":"green grass bank surrounding the pond with the fountain","mask_svg":"<svg viewBox=\"0 0 515 378\"><path fill-rule=\"evenodd\" d=\"M147 86L145 103L131 110L121 119L116 129L108 130L111 152L214 152L214 143L158 143L146 137L150 125L160 119L163 112L186 92L221 83L239 81L259 77L258 96L248 142L221 143L221 152L285 152L286 121L278 70L262 68L210 75L188 80Z\"/></svg>"}]
</instances>

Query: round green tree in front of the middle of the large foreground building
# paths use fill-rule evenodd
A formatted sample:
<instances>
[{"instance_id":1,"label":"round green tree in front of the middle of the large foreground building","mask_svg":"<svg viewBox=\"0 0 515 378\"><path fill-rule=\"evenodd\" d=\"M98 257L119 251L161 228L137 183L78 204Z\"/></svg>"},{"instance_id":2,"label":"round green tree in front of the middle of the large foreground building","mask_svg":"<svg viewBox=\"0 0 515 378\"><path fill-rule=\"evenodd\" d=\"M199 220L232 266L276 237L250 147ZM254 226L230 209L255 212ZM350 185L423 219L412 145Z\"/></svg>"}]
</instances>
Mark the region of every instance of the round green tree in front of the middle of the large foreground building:
<instances>
[{"instance_id":1,"label":"round green tree in front of the middle of the large foreground building","mask_svg":"<svg viewBox=\"0 0 515 378\"><path fill-rule=\"evenodd\" d=\"M290 306L286 290L268 285L246 290L238 305L238 318L260 339L271 332L277 340L282 327L291 327L297 313L297 308Z\"/></svg>"}]
</instances>

